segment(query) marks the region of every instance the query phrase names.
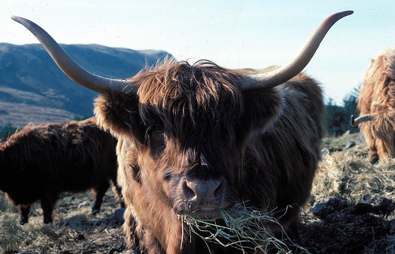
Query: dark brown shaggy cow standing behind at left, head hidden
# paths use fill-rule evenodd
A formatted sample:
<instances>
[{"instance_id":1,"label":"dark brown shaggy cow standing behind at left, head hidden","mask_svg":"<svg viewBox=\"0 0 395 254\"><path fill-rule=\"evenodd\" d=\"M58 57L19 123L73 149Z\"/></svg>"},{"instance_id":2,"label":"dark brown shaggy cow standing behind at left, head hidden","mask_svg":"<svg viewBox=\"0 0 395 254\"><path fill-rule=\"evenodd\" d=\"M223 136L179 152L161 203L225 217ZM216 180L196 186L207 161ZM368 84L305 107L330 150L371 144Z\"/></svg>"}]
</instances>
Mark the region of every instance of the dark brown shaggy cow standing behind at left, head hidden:
<instances>
[{"instance_id":1,"label":"dark brown shaggy cow standing behind at left, head hidden","mask_svg":"<svg viewBox=\"0 0 395 254\"><path fill-rule=\"evenodd\" d=\"M92 189L92 212L100 210L110 180L117 183L117 141L96 118L40 126L27 125L0 143L0 190L28 222L30 206L40 200L44 223L52 221L59 194ZM124 207L120 188L115 187Z\"/></svg>"}]
</instances>

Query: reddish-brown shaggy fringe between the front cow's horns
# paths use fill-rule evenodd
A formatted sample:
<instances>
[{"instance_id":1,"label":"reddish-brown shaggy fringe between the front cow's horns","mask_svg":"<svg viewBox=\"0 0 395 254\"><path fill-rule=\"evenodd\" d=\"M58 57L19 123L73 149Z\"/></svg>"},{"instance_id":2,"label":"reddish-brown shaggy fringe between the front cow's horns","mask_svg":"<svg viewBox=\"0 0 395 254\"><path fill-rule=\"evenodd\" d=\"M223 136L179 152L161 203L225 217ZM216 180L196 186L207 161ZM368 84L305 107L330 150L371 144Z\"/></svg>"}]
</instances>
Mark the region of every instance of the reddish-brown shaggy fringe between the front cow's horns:
<instances>
[{"instance_id":1,"label":"reddish-brown shaggy fringe between the front cow's horns","mask_svg":"<svg viewBox=\"0 0 395 254\"><path fill-rule=\"evenodd\" d=\"M239 76L208 60L199 60L190 65L187 61L165 59L155 68L147 67L131 78L130 82L138 85L140 104L153 105L167 112L177 110L172 113L181 113L182 117L187 114L194 117L197 108L214 113L222 110L209 110L207 107L225 107L227 111L241 110L242 107L242 98L236 91L239 87L235 86L239 84ZM187 105L184 104L185 96L189 97ZM228 100L233 102L229 105L241 107L229 109L229 105L227 107L223 103ZM141 115L146 115L147 108L143 106L140 111ZM220 119L223 114L212 117L213 120Z\"/></svg>"}]
</instances>

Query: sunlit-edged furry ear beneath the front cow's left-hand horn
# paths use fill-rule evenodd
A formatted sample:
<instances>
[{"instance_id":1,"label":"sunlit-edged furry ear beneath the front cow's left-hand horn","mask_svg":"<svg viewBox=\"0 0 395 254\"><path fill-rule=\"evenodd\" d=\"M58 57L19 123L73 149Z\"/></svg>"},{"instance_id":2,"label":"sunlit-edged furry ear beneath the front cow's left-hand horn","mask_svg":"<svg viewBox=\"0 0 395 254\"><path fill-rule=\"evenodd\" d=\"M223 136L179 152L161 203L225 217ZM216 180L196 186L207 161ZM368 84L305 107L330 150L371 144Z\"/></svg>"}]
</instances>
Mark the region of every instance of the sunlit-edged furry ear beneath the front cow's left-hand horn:
<instances>
[{"instance_id":1,"label":"sunlit-edged furry ear beneath the front cow's left-hand horn","mask_svg":"<svg viewBox=\"0 0 395 254\"><path fill-rule=\"evenodd\" d=\"M108 91L95 99L94 106L98 124L109 129L117 139L130 136L141 139L137 95Z\"/></svg>"}]
</instances>

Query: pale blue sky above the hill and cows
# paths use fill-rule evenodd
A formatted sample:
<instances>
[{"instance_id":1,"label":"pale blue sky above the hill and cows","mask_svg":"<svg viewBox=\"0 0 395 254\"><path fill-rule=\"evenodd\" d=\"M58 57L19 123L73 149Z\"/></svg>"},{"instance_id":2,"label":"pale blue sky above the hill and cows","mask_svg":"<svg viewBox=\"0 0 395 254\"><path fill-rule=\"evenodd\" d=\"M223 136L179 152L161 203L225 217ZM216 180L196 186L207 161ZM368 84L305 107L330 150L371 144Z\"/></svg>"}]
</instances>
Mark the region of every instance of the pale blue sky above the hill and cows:
<instances>
[{"instance_id":1,"label":"pale blue sky above the hill and cows","mask_svg":"<svg viewBox=\"0 0 395 254\"><path fill-rule=\"evenodd\" d=\"M263 68L291 59L330 14L354 10L324 38L305 71L339 105L382 50L395 45L392 1L0 0L0 42L37 43L11 15L28 18L59 43L157 49L178 60Z\"/></svg>"}]
</instances>

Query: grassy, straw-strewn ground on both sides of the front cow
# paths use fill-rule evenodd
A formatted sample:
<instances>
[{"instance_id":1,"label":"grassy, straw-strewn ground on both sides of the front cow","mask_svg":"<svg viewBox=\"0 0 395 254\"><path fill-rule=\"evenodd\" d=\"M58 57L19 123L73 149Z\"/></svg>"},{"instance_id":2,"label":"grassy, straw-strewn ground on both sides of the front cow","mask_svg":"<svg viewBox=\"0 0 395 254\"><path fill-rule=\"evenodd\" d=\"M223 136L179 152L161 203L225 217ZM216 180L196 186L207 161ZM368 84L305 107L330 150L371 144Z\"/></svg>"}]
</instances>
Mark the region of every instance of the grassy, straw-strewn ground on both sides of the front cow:
<instances>
[{"instance_id":1,"label":"grassy, straw-strewn ground on both sides of the front cow","mask_svg":"<svg viewBox=\"0 0 395 254\"><path fill-rule=\"evenodd\" d=\"M341 197L351 206L364 194L395 197L395 159L370 165L364 142L343 150L355 140L356 134L323 140L323 159L300 217L300 236L290 247L292 253L395 253L394 212L341 211L324 219L312 213L315 202L327 196ZM90 213L91 200L90 192L65 193L49 225L42 223L36 203L29 223L21 226L17 209L0 193L0 253L127 253L121 222L114 217L119 204L112 190L96 215Z\"/></svg>"}]
</instances>

